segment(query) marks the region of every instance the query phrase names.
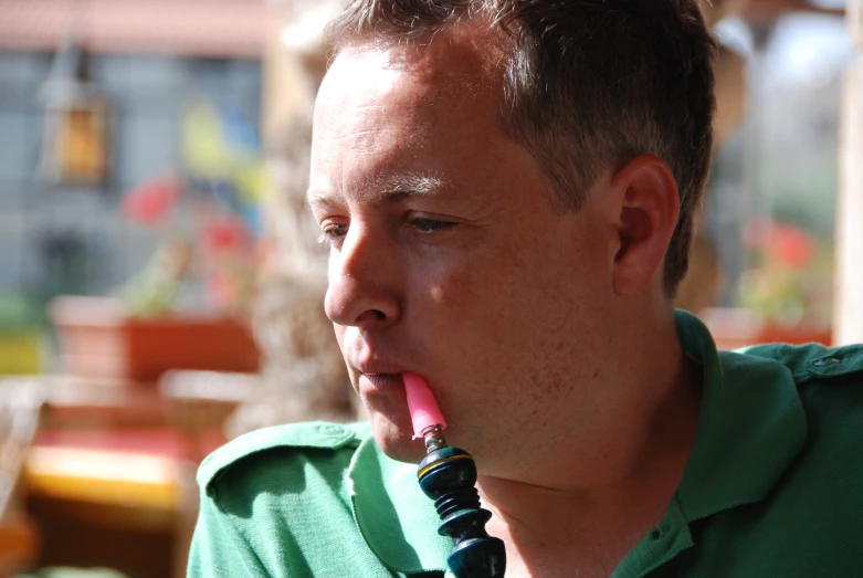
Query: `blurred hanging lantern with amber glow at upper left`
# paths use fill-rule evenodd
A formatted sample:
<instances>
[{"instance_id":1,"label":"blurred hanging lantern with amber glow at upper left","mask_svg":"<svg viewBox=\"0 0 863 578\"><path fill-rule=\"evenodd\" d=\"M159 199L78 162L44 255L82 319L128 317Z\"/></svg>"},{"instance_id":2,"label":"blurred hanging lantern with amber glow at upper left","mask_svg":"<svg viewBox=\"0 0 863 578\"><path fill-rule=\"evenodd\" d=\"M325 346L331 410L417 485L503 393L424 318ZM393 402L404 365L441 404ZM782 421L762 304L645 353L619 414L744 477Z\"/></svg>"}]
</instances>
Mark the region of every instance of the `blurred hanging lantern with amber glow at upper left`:
<instances>
[{"instance_id":1,"label":"blurred hanging lantern with amber glow at upper left","mask_svg":"<svg viewBox=\"0 0 863 578\"><path fill-rule=\"evenodd\" d=\"M90 76L78 42L63 45L42 87L45 129L40 171L55 186L101 187L110 165L109 102Z\"/></svg>"}]
</instances>

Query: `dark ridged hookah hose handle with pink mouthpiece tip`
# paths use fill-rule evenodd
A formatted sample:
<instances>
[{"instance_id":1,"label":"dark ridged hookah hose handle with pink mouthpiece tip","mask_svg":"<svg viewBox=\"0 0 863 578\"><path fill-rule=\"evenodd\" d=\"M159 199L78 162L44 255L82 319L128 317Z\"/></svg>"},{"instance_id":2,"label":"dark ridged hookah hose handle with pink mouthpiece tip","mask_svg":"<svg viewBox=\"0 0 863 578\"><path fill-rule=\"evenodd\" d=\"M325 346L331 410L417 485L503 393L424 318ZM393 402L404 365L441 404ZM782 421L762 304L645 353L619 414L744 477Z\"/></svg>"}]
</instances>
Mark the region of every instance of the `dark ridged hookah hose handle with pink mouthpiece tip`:
<instances>
[{"instance_id":1,"label":"dark ridged hookah hose handle with pink mouthpiece tip","mask_svg":"<svg viewBox=\"0 0 863 578\"><path fill-rule=\"evenodd\" d=\"M485 524L492 513L480 506L476 464L461 448L446 444L441 431L446 427L438 402L425 380L402 374L414 438L425 441L425 458L417 479L422 492L434 500L441 517L438 534L455 540L446 559L455 578L498 578L506 570L506 549L499 538L488 536Z\"/></svg>"}]
</instances>

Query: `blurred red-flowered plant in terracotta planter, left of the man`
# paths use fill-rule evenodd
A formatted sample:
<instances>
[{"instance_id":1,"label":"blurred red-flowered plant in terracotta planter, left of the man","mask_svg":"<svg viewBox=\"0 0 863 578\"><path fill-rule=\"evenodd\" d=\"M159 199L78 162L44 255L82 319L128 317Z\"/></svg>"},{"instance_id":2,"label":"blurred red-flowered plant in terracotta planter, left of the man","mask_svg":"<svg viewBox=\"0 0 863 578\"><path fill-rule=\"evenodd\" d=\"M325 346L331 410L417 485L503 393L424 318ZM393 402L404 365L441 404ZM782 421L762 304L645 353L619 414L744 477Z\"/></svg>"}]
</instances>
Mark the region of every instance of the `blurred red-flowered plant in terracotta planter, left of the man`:
<instances>
[{"instance_id":1,"label":"blurred red-flowered plant in terracotta planter, left of the man","mask_svg":"<svg viewBox=\"0 0 863 578\"><path fill-rule=\"evenodd\" d=\"M124 216L159 240L144 269L110 296L60 296L50 304L65 371L154 381L169 369L257 369L246 319L263 168L252 153L229 149L212 134L219 128L212 109L193 111L185 174L124 195Z\"/></svg>"}]
</instances>

